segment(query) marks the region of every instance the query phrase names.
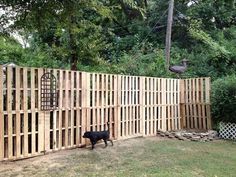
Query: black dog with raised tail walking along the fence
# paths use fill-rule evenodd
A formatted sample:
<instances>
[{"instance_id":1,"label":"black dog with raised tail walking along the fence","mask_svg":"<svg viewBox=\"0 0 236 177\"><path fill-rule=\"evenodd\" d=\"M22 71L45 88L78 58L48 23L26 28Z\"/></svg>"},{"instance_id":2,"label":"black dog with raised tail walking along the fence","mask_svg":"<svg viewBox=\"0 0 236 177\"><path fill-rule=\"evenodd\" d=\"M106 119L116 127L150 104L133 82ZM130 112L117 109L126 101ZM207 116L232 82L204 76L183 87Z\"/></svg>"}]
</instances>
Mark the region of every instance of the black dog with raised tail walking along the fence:
<instances>
[{"instance_id":1,"label":"black dog with raised tail walking along the fence","mask_svg":"<svg viewBox=\"0 0 236 177\"><path fill-rule=\"evenodd\" d=\"M108 130L106 131L90 131L90 132L85 132L83 135L83 138L89 138L90 142L92 144L92 149L94 148L94 145L101 139L103 139L105 143L105 147L107 147L107 141L110 141L112 146L113 142L110 139L110 132L109 132L109 123L107 122L108 125Z\"/></svg>"}]
</instances>

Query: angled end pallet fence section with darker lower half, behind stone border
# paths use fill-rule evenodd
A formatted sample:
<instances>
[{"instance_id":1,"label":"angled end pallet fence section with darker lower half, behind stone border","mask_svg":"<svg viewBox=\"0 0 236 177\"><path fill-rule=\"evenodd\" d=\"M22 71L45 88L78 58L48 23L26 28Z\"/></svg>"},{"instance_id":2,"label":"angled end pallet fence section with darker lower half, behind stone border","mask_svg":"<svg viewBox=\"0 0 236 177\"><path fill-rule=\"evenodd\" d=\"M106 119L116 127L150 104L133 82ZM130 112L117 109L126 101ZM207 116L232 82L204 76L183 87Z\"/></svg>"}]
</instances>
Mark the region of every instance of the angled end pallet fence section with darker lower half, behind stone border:
<instances>
[{"instance_id":1,"label":"angled end pallet fence section with darker lower half, behind stone border","mask_svg":"<svg viewBox=\"0 0 236 177\"><path fill-rule=\"evenodd\" d=\"M211 129L210 78L180 81L182 128Z\"/></svg>"}]
</instances>

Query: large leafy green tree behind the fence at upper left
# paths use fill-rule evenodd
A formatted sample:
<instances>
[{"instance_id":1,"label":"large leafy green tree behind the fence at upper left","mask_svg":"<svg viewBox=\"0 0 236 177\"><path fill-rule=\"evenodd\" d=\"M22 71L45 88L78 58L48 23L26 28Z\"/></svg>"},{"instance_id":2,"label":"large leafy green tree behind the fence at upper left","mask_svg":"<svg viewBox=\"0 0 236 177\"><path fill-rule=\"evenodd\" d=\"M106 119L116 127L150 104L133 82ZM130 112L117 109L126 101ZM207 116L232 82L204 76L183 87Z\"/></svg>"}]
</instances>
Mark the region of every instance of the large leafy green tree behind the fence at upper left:
<instances>
[{"instance_id":1,"label":"large leafy green tree behind the fence at upper left","mask_svg":"<svg viewBox=\"0 0 236 177\"><path fill-rule=\"evenodd\" d=\"M106 48L107 32L102 25L112 13L97 1L11 1L3 4L7 13L1 21L14 20L8 29L24 30L52 48L58 60L70 59L71 69L78 60L89 63ZM9 14L16 12L16 15ZM66 61L67 62L67 61Z\"/></svg>"}]
</instances>

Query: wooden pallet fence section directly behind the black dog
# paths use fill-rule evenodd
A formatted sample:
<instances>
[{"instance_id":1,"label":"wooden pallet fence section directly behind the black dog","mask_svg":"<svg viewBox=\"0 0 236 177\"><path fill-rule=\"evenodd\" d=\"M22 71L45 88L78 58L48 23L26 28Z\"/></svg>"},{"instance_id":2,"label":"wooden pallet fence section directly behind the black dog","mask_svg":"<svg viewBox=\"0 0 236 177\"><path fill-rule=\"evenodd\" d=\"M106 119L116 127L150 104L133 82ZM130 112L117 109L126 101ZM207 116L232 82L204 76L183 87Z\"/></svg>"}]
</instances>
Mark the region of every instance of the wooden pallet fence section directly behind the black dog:
<instances>
[{"instance_id":1,"label":"wooden pallet fence section directly behind the black dog","mask_svg":"<svg viewBox=\"0 0 236 177\"><path fill-rule=\"evenodd\" d=\"M110 131L114 138L117 109L117 76L110 74L87 73L88 77L88 117L87 131ZM107 123L109 122L109 126Z\"/></svg>"}]
</instances>

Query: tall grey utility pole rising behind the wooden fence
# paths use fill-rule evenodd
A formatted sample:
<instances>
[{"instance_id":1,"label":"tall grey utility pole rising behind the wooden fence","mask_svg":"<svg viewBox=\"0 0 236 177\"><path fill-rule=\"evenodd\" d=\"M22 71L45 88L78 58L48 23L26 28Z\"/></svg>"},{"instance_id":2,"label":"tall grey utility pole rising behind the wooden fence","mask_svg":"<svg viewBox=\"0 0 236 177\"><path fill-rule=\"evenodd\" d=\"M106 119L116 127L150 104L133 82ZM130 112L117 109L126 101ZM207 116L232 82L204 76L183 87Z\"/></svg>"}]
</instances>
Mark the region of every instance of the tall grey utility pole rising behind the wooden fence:
<instances>
[{"instance_id":1,"label":"tall grey utility pole rising behind the wooden fence","mask_svg":"<svg viewBox=\"0 0 236 177\"><path fill-rule=\"evenodd\" d=\"M167 71L170 66L170 48L171 48L171 30L172 30L172 22L173 22L173 10L174 10L174 0L170 0L169 9L168 9L168 21L167 21L167 29L166 29L166 47L165 47Z\"/></svg>"}]
</instances>

